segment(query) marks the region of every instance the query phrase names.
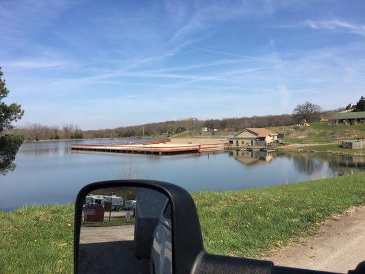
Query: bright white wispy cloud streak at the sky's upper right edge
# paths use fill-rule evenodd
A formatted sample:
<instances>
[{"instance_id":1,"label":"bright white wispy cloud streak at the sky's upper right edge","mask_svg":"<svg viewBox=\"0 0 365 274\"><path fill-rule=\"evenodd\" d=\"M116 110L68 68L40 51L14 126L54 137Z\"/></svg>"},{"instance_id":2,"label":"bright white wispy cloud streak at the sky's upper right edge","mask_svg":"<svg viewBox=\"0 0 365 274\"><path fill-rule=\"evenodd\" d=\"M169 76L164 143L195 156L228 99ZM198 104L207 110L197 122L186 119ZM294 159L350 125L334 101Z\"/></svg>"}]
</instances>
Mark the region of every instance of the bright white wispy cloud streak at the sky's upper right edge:
<instances>
[{"instance_id":1,"label":"bright white wispy cloud streak at the sky's upper right edge","mask_svg":"<svg viewBox=\"0 0 365 274\"><path fill-rule=\"evenodd\" d=\"M338 32L348 32L351 34L365 36L365 25L355 25L338 19L328 21L308 20L305 22L305 25L312 27L312 29L331 29Z\"/></svg>"}]
</instances>

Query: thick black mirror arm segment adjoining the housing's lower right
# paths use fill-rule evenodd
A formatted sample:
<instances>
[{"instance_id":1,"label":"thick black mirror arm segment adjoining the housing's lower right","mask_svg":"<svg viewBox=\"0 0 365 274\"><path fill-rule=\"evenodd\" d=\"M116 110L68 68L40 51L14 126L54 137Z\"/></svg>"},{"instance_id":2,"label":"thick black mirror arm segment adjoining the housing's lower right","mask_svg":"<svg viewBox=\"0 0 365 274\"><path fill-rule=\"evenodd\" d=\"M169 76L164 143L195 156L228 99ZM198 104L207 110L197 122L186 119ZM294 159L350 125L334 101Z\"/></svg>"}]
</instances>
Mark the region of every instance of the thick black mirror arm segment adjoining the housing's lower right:
<instances>
[{"instance_id":1,"label":"thick black mirror arm segment adjoining the housing's lower right","mask_svg":"<svg viewBox=\"0 0 365 274\"><path fill-rule=\"evenodd\" d=\"M273 262L230 256L218 256L201 251L195 260L192 274L250 273L270 274Z\"/></svg>"}]
</instances>

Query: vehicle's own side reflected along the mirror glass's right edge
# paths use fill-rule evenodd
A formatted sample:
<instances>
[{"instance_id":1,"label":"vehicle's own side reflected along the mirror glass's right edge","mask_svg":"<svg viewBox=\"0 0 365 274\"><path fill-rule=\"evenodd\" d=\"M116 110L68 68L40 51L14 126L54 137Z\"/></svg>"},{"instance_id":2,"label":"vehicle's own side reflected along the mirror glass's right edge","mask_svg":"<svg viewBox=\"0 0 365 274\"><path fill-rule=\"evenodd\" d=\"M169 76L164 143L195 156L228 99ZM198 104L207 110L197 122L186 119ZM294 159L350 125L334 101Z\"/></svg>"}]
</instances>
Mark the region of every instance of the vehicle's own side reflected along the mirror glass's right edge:
<instances>
[{"instance_id":1,"label":"vehicle's own side reflected along the mirror glass's right edge","mask_svg":"<svg viewBox=\"0 0 365 274\"><path fill-rule=\"evenodd\" d=\"M172 236L171 203L167 202L153 233L151 273L173 273Z\"/></svg>"}]
</instances>

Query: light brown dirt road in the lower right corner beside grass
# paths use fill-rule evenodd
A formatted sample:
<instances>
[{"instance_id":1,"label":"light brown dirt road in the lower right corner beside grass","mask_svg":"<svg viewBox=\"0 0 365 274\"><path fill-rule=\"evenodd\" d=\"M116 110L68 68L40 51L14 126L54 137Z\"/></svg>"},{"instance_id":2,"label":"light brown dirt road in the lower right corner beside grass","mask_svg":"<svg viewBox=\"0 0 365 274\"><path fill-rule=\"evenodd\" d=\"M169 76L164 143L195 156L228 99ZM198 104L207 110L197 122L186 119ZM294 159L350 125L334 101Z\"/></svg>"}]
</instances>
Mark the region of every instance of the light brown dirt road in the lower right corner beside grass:
<instances>
[{"instance_id":1,"label":"light brown dirt road in the lower right corner beside grass","mask_svg":"<svg viewBox=\"0 0 365 274\"><path fill-rule=\"evenodd\" d=\"M347 273L365 260L365 206L325 222L320 234L265 258L277 265Z\"/></svg>"}]
</instances>

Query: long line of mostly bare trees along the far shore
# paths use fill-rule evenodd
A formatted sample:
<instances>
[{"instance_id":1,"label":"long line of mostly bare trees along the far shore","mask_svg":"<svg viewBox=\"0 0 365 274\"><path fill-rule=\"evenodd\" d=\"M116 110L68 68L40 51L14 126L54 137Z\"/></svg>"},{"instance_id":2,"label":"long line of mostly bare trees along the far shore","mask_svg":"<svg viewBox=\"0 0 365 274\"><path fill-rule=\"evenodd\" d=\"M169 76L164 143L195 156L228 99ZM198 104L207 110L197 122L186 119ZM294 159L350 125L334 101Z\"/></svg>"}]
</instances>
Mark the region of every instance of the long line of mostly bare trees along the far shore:
<instances>
[{"instance_id":1,"label":"long line of mostly bare trees along the far shore","mask_svg":"<svg viewBox=\"0 0 365 274\"><path fill-rule=\"evenodd\" d=\"M308 105L309 104L309 105ZM193 117L177 121L160 123L146 123L117 127L114 129L81 130L77 125L47 126L38 123L28 124L14 129L9 129L12 134L23 134L25 140L58 140L79 138L129 138L173 136L181 132L193 131L198 133L203 128L214 132L238 132L246 127L277 127L294 125L305 119L308 122L319 121L327 118L335 111L322 111L318 105L309 102L297 105L293 114L251 116L240 118L199 120Z\"/></svg>"}]
</instances>

